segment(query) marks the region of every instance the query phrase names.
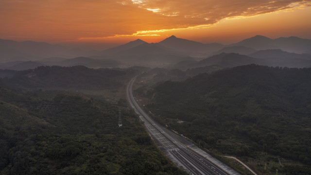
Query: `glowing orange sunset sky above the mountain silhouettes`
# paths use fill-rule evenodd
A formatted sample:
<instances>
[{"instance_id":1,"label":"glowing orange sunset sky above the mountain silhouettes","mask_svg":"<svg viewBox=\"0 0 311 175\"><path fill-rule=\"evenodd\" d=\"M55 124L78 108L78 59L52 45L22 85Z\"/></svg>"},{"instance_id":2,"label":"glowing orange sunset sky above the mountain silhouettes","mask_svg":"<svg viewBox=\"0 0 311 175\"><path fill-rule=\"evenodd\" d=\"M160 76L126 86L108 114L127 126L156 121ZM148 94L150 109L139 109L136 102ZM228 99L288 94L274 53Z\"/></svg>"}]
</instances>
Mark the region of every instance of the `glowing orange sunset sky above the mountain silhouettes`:
<instances>
[{"instance_id":1,"label":"glowing orange sunset sky above the mountain silhouettes","mask_svg":"<svg viewBox=\"0 0 311 175\"><path fill-rule=\"evenodd\" d=\"M311 39L311 0L0 0L0 38L48 43L229 44L255 35Z\"/></svg>"}]
</instances>

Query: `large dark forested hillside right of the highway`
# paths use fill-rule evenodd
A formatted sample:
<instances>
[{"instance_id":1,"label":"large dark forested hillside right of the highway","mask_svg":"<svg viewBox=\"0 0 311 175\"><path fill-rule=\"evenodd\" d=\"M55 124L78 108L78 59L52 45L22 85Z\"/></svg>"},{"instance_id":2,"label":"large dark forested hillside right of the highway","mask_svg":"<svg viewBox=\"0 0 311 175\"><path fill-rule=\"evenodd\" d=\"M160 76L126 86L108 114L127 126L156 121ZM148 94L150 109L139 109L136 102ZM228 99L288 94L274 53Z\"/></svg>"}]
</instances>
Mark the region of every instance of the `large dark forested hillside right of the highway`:
<instances>
[{"instance_id":1,"label":"large dark forested hillside right of the highway","mask_svg":"<svg viewBox=\"0 0 311 175\"><path fill-rule=\"evenodd\" d=\"M218 155L262 174L311 173L311 69L247 65L136 92L159 123Z\"/></svg>"}]
</instances>

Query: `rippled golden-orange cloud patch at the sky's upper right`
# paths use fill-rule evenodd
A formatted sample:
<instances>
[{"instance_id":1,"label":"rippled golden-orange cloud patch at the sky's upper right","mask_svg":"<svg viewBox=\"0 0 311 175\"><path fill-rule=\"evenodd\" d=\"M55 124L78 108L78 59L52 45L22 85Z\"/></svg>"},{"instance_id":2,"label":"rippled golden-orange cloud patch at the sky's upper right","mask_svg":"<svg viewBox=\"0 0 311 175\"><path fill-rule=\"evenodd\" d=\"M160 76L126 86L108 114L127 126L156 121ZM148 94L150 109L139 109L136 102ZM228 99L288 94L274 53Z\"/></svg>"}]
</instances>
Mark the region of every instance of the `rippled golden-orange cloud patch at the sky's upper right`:
<instances>
[{"instance_id":1,"label":"rippled golden-orange cloud patch at the sky's upper right","mask_svg":"<svg viewBox=\"0 0 311 175\"><path fill-rule=\"evenodd\" d=\"M177 16L190 24L212 24L223 18L254 16L301 6L311 0L132 0L140 8L157 9L163 16ZM180 24L179 24L180 25Z\"/></svg>"}]
</instances>

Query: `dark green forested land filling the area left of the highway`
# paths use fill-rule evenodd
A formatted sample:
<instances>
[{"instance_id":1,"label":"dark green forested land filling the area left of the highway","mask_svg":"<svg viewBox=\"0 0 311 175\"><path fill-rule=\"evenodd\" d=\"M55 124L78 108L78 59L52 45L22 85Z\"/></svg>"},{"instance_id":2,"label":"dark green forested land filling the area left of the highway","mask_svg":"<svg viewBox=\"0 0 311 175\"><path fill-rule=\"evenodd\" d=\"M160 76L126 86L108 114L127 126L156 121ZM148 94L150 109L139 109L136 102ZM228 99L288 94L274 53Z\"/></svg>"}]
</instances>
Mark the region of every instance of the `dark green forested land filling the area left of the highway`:
<instances>
[{"instance_id":1,"label":"dark green forested land filling the area left of the highway","mask_svg":"<svg viewBox=\"0 0 311 175\"><path fill-rule=\"evenodd\" d=\"M124 99L112 104L60 90L124 86L113 77L124 80L132 71L79 66L6 71L12 76L2 78L0 87L0 174L186 174L159 151Z\"/></svg>"}]
</instances>

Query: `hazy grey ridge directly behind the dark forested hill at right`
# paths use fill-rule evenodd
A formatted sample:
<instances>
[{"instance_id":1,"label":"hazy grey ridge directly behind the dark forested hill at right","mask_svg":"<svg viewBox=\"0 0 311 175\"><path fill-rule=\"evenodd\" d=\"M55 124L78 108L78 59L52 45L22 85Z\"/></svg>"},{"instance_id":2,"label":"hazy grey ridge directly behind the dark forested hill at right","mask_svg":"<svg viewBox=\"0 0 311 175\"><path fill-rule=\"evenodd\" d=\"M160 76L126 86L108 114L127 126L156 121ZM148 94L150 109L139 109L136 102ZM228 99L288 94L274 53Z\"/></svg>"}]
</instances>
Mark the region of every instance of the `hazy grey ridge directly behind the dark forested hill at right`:
<instances>
[{"instance_id":1,"label":"hazy grey ridge directly behind the dark forested hill at right","mask_svg":"<svg viewBox=\"0 0 311 175\"><path fill-rule=\"evenodd\" d=\"M311 67L310 54L288 53L279 49L261 50L248 55L239 53L220 53L200 61L181 61L173 66L180 70L201 68L218 65L222 68L258 64L273 67L309 68Z\"/></svg>"}]
</instances>

